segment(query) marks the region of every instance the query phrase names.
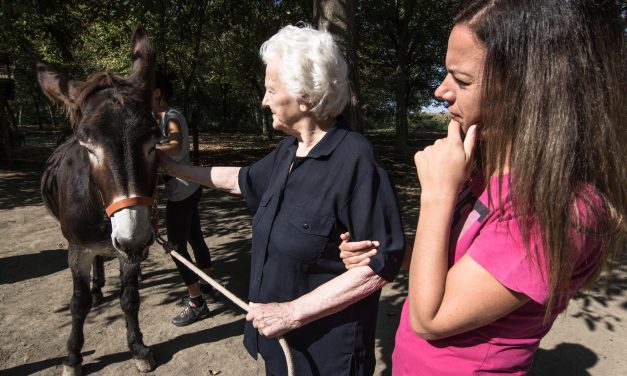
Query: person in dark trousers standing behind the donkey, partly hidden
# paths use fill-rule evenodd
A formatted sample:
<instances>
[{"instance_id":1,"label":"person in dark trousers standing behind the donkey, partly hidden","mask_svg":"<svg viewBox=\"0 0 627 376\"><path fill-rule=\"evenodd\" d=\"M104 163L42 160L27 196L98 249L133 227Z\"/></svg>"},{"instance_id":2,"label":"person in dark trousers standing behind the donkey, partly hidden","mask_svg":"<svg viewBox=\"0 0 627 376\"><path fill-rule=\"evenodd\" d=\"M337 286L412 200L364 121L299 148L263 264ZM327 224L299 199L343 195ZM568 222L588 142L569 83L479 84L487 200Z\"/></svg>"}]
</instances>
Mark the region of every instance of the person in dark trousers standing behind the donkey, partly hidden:
<instances>
[{"instance_id":1,"label":"person in dark trousers standing behind the donkey, partly hidden","mask_svg":"<svg viewBox=\"0 0 627 376\"><path fill-rule=\"evenodd\" d=\"M155 90L152 96L152 109L161 128L162 140L157 149L179 163L190 165L189 137L187 122L183 115L170 107L173 94L172 76L163 72L155 73ZM189 243L194 252L196 264L208 275L211 273L211 254L205 243L200 227L198 203L202 187L180 178L164 175L166 204L166 228L168 241L176 251L191 261L187 250ZM172 257L188 295L182 299L185 308L172 319L172 324L185 326L210 315L206 303L215 303L216 298L209 284L200 283L198 276L180 261ZM204 281L202 281L204 282Z\"/></svg>"}]
</instances>

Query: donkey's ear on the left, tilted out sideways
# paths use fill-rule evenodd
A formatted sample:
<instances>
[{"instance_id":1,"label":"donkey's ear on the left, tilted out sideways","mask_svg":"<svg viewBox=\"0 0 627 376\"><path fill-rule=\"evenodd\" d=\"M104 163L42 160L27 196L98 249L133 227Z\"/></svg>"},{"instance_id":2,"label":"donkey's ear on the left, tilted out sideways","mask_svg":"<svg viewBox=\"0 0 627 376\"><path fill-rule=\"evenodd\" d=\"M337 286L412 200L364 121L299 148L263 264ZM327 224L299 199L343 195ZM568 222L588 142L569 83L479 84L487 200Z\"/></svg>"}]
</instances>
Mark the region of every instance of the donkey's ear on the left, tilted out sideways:
<instances>
[{"instance_id":1,"label":"donkey's ear on the left, tilted out sideways","mask_svg":"<svg viewBox=\"0 0 627 376\"><path fill-rule=\"evenodd\" d=\"M48 98L63 104L66 108L74 108L85 84L82 81L71 80L43 63L37 64L37 81Z\"/></svg>"}]
</instances>

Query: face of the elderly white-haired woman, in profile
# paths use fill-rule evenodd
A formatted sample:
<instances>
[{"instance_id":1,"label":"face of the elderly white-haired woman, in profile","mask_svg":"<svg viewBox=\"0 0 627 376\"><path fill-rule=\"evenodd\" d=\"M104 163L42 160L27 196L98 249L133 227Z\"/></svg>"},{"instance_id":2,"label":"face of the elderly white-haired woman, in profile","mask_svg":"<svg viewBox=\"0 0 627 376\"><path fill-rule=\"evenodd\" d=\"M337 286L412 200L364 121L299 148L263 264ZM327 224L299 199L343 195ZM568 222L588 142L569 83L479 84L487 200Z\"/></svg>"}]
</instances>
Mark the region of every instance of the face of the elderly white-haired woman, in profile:
<instances>
[{"instance_id":1,"label":"face of the elderly white-haired woman, in profile","mask_svg":"<svg viewBox=\"0 0 627 376\"><path fill-rule=\"evenodd\" d=\"M280 60L273 60L266 66L266 93L261 104L272 111L272 127L288 132L304 116L304 105L291 96L279 77Z\"/></svg>"}]
</instances>

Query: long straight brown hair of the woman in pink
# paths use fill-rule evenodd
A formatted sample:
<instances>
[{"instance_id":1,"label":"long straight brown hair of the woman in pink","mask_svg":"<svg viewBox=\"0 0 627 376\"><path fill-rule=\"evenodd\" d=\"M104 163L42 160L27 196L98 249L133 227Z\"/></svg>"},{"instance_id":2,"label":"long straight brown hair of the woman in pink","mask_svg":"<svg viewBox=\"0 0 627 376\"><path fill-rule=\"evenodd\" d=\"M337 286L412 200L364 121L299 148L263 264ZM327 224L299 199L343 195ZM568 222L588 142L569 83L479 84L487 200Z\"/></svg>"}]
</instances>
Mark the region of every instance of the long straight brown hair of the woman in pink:
<instances>
[{"instance_id":1,"label":"long straight brown hair of the woman in pink","mask_svg":"<svg viewBox=\"0 0 627 376\"><path fill-rule=\"evenodd\" d=\"M462 4L455 23L486 48L481 165L500 174L509 155L511 198L528 254L540 262L535 228L544 248L548 318L570 296L577 263L571 231L602 240L588 285L625 245L627 106L618 7L612 0L473 0ZM582 229L590 213L596 225Z\"/></svg>"}]
</instances>

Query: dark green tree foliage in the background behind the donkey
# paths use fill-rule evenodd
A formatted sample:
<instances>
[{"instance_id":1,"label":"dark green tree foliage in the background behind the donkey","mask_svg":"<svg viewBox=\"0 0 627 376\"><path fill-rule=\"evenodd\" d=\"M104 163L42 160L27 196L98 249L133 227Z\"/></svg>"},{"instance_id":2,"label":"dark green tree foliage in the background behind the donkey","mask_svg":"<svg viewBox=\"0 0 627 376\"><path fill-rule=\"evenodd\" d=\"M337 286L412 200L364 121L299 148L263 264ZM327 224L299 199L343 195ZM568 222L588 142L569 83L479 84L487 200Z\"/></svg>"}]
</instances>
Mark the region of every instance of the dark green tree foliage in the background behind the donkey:
<instances>
[{"instance_id":1,"label":"dark green tree foliage in the background behind the donkey","mask_svg":"<svg viewBox=\"0 0 627 376\"><path fill-rule=\"evenodd\" d=\"M409 17L408 103L416 113L438 82L451 2L357 1L358 59L364 113L373 127L394 124L399 17ZM35 64L45 60L68 76L112 70L128 74L130 35L142 25L163 69L176 74L173 104L201 130L261 131L264 67L261 43L281 26L311 22L311 0L16 0L0 9L0 50L16 60L15 112L23 122L51 122ZM53 107L58 122L64 119ZM410 118L410 123L414 123Z\"/></svg>"}]
</instances>

